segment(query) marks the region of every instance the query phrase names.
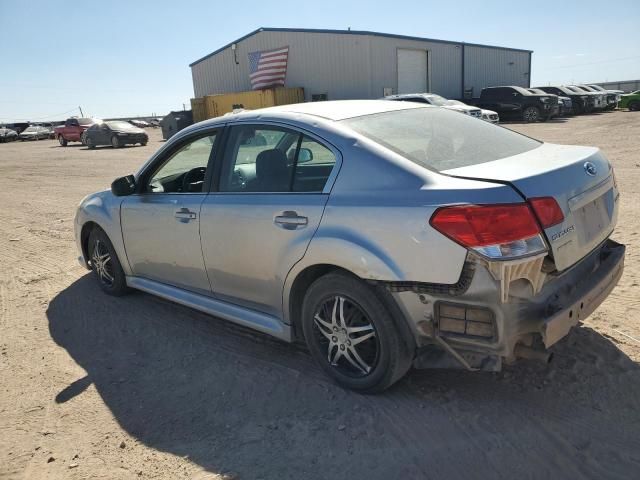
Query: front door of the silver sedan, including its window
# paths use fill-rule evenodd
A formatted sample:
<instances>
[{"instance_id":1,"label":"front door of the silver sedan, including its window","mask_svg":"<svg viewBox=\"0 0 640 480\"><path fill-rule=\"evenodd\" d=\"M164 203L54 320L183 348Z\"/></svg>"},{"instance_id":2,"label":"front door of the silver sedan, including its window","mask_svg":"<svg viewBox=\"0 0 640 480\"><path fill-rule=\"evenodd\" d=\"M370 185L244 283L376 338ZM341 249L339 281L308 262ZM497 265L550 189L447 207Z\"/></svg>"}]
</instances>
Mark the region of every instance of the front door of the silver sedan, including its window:
<instances>
[{"instance_id":1,"label":"front door of the silver sedan, including its window","mask_svg":"<svg viewBox=\"0 0 640 480\"><path fill-rule=\"evenodd\" d=\"M200 248L200 207L215 162L217 131L163 152L121 207L122 237L135 276L211 295Z\"/></svg>"}]
</instances>

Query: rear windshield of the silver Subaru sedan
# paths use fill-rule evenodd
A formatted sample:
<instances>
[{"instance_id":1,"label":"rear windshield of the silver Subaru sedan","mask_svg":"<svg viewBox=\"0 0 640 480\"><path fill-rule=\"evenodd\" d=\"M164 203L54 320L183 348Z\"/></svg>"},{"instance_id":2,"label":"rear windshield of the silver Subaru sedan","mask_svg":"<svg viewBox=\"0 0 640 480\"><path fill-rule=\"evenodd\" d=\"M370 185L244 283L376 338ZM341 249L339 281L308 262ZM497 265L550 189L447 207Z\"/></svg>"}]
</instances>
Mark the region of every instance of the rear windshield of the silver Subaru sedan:
<instances>
[{"instance_id":1,"label":"rear windshield of the silver Subaru sedan","mask_svg":"<svg viewBox=\"0 0 640 480\"><path fill-rule=\"evenodd\" d=\"M418 165L436 171L492 162L542 142L443 108L395 110L342 123Z\"/></svg>"}]
</instances>

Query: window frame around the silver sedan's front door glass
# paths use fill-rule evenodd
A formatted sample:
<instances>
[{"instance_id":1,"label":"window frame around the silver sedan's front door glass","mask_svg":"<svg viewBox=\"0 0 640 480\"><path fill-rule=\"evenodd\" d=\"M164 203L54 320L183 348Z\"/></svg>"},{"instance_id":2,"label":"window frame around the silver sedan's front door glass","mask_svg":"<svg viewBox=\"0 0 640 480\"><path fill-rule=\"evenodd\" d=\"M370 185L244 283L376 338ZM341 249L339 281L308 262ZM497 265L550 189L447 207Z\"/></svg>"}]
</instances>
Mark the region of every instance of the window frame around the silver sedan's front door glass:
<instances>
[{"instance_id":1,"label":"window frame around the silver sedan's front door glass","mask_svg":"<svg viewBox=\"0 0 640 480\"><path fill-rule=\"evenodd\" d=\"M216 125L214 128L197 130L195 132L190 133L189 135L185 135L180 138L176 142L169 145L166 149L159 151L155 157L152 157L146 165L140 170L138 175L136 176L136 190L133 195L144 196L144 195L206 195L211 190L211 184L213 182L214 176L216 172L217 164L215 159L220 155L221 144L224 140L224 125ZM216 141L211 149L211 153L209 154L209 160L207 162L207 171L204 177L204 184L202 185L201 192L147 192L144 190L144 187L147 185L150 180L151 175L156 172L159 165L166 163L170 160L170 158L175 155L182 147L189 143L193 143L199 139L210 137L211 135L216 135Z\"/></svg>"}]
</instances>

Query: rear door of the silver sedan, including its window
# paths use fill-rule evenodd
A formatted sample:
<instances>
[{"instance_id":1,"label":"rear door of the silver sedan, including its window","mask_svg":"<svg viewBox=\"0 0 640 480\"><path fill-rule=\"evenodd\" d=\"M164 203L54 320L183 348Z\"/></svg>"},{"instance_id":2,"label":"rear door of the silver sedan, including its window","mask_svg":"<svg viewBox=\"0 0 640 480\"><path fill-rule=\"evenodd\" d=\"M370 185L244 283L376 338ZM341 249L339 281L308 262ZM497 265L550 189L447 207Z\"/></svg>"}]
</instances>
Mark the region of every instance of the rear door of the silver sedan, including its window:
<instances>
[{"instance_id":1,"label":"rear door of the silver sedan, including its window","mask_svg":"<svg viewBox=\"0 0 640 480\"><path fill-rule=\"evenodd\" d=\"M284 280L320 223L339 161L334 147L296 130L229 129L218 188L201 210L216 297L281 315Z\"/></svg>"}]
</instances>

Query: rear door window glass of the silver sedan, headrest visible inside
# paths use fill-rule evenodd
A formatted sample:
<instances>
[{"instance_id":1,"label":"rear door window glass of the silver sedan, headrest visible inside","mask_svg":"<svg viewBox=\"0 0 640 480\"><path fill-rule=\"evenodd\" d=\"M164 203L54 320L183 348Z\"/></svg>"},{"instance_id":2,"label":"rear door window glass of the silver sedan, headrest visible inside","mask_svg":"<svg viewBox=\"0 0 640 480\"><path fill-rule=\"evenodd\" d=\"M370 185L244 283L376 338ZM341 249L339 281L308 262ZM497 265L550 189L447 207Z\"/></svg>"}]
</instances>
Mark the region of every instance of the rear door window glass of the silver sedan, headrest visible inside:
<instances>
[{"instance_id":1,"label":"rear door window glass of the silver sedan, headrest visible inside","mask_svg":"<svg viewBox=\"0 0 640 480\"><path fill-rule=\"evenodd\" d=\"M221 192L322 192L336 163L326 146L280 127L233 127L227 145Z\"/></svg>"}]
</instances>

